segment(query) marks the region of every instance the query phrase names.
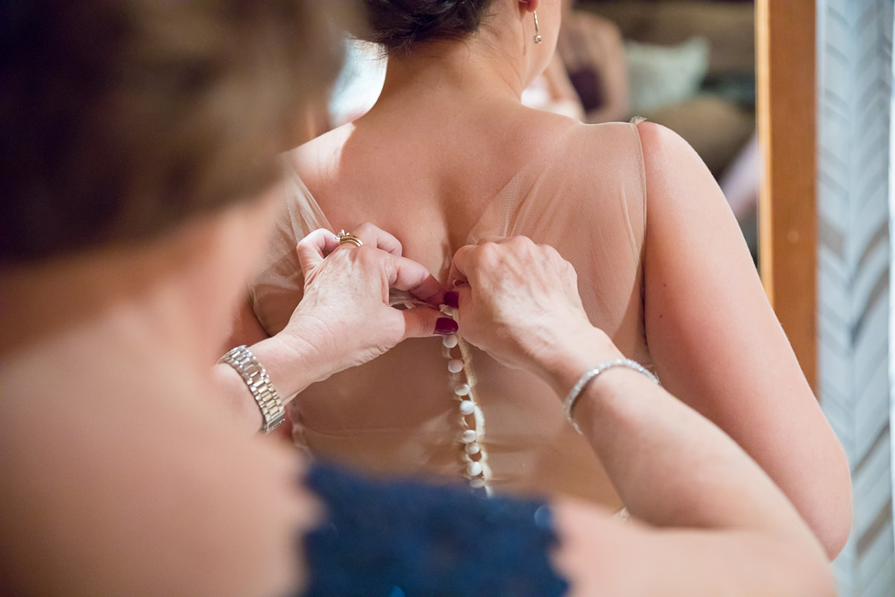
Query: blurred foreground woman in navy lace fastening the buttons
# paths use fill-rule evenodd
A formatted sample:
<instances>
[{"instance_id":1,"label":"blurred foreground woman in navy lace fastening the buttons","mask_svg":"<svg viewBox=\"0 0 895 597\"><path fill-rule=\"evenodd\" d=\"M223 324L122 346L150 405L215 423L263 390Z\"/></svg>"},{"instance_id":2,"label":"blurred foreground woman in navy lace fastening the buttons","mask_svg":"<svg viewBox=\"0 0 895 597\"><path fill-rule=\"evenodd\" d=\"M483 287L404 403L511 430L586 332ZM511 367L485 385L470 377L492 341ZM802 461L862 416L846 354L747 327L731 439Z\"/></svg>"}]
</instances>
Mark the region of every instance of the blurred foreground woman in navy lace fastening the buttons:
<instances>
[{"instance_id":1,"label":"blurred foreground woman in navy lace fastening the buttons","mask_svg":"<svg viewBox=\"0 0 895 597\"><path fill-rule=\"evenodd\" d=\"M325 82L332 6L4 4L0 592L831 593L823 551L761 470L625 366L568 410L643 525L363 482L244 437L209 364L264 244L277 149ZM389 286L445 291L364 230L360 247L326 231L299 247L306 299L335 298L271 340L308 379L439 325L434 309L387 311ZM501 362L566 393L618 357L552 250L470 246L454 268L460 324ZM358 312L367 326L348 328Z\"/></svg>"}]
</instances>

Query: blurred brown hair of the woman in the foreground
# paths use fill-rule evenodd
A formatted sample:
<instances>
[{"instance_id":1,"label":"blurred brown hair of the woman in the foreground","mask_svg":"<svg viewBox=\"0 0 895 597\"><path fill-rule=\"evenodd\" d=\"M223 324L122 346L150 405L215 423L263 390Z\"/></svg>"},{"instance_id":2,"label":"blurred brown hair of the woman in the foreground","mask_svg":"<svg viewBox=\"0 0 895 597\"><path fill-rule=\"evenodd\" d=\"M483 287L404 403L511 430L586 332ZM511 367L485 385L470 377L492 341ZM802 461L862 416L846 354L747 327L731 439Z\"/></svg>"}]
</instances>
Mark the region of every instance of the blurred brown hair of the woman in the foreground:
<instances>
[{"instance_id":1,"label":"blurred brown hair of the woman in the foreground","mask_svg":"<svg viewBox=\"0 0 895 597\"><path fill-rule=\"evenodd\" d=\"M334 0L4 0L0 264L257 195L335 75Z\"/></svg>"}]
</instances>

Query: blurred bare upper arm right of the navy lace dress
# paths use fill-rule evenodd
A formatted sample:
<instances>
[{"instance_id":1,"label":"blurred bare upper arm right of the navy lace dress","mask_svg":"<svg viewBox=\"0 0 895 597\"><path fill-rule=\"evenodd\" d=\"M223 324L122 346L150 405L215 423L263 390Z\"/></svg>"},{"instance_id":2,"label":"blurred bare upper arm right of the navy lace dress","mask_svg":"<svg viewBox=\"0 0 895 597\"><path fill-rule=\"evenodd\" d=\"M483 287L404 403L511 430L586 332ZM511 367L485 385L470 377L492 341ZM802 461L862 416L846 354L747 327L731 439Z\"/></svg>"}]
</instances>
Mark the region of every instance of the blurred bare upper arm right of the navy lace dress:
<instances>
[{"instance_id":1,"label":"blurred bare upper arm right of the navy lace dress","mask_svg":"<svg viewBox=\"0 0 895 597\"><path fill-rule=\"evenodd\" d=\"M822 557L769 533L618 525L568 499L553 504L553 515L553 562L572 596L836 594Z\"/></svg>"}]
</instances>

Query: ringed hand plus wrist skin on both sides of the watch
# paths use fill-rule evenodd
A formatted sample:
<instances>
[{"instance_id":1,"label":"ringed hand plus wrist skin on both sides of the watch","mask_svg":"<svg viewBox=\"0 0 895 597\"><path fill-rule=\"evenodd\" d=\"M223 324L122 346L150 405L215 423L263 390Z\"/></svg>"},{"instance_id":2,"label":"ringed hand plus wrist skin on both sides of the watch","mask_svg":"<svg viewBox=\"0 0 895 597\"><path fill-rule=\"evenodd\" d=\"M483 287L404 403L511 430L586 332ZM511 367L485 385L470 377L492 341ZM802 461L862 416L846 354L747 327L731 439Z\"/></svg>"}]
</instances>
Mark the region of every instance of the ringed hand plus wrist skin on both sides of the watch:
<instances>
[{"instance_id":1,"label":"ringed hand plus wrist skin on both sides of the watch","mask_svg":"<svg viewBox=\"0 0 895 597\"><path fill-rule=\"evenodd\" d=\"M315 381L360 365L407 337L456 332L456 321L442 316L445 288L419 263L401 256L401 243L372 224L354 231L363 246L339 246L328 230L315 230L296 248L304 274L304 296L277 335L251 345L284 401ZM388 306L397 288L420 299L398 311ZM233 368L213 368L218 394L226 397L247 431L258 431L258 405Z\"/></svg>"}]
</instances>

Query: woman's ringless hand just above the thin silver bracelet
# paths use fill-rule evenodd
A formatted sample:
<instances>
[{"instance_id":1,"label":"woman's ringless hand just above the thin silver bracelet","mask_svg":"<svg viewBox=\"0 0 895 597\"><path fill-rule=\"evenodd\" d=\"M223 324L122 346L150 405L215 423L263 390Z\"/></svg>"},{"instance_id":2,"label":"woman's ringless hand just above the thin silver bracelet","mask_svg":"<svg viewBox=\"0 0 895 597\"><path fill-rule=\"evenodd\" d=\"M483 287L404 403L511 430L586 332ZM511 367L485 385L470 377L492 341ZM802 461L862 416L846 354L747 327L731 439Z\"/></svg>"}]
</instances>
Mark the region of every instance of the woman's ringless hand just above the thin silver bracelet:
<instances>
[{"instance_id":1,"label":"woman's ringless hand just above the thin silver bracelet","mask_svg":"<svg viewBox=\"0 0 895 597\"><path fill-rule=\"evenodd\" d=\"M553 247L524 236L467 245L448 282L463 336L508 367L537 371L560 394L594 363L621 357L587 319L575 269Z\"/></svg>"}]
</instances>

